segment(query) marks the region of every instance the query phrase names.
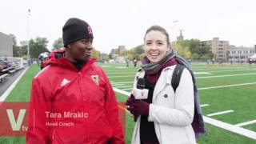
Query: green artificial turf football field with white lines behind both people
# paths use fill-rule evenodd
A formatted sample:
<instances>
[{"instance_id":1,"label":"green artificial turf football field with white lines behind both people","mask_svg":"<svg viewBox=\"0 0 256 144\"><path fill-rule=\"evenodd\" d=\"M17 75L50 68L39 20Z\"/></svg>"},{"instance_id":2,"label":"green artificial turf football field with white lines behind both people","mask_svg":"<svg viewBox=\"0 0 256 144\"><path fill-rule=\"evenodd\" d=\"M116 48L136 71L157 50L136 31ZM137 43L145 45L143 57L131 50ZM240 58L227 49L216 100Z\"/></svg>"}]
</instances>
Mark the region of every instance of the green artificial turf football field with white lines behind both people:
<instances>
[{"instance_id":1,"label":"green artificial turf football field with white lines behind both people","mask_svg":"<svg viewBox=\"0 0 256 144\"><path fill-rule=\"evenodd\" d=\"M106 71L114 90L121 91L116 92L118 102L125 102L127 99L125 92L131 91L138 66L134 68L130 64L127 68L126 64L98 65ZM246 63L243 65L192 63L192 68L196 75L204 118L217 121L217 124L213 124L207 120L208 134L202 136L198 143L256 143L256 138L248 138L241 132L246 130L250 134L256 133L256 64L250 66ZM5 102L29 102L31 79L38 71L39 66L30 66ZM218 122L228 125L232 130L238 127L240 128L238 131L244 135L236 134L229 128L223 129L223 125ZM126 143L130 143L133 127L133 118L126 114ZM25 143L25 137L0 137L0 143Z\"/></svg>"}]
</instances>

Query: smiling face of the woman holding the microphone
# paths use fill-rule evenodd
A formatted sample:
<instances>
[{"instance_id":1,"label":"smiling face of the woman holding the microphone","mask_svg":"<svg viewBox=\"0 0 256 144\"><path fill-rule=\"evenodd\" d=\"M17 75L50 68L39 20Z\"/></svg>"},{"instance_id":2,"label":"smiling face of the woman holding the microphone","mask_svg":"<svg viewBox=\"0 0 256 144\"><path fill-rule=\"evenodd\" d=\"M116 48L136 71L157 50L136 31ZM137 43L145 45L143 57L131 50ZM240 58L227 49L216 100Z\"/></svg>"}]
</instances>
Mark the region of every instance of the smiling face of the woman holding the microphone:
<instances>
[{"instance_id":1,"label":"smiling face of the woman holding the microphone","mask_svg":"<svg viewBox=\"0 0 256 144\"><path fill-rule=\"evenodd\" d=\"M159 30L150 30L144 38L144 50L150 62L159 62L170 50L166 34Z\"/></svg>"}]
</instances>

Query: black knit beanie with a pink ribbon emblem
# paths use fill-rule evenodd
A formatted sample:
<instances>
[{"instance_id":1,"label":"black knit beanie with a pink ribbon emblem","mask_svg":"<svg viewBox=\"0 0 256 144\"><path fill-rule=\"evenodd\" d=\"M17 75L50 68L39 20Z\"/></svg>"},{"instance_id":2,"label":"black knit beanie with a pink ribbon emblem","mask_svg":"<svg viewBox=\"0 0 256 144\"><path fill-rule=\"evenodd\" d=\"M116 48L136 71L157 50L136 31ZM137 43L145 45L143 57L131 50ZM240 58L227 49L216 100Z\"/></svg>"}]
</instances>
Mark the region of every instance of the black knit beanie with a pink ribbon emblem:
<instances>
[{"instance_id":1,"label":"black knit beanie with a pink ribbon emblem","mask_svg":"<svg viewBox=\"0 0 256 144\"><path fill-rule=\"evenodd\" d=\"M63 44L76 42L84 38L94 38L93 31L87 22L79 18L70 18L62 28Z\"/></svg>"}]
</instances>

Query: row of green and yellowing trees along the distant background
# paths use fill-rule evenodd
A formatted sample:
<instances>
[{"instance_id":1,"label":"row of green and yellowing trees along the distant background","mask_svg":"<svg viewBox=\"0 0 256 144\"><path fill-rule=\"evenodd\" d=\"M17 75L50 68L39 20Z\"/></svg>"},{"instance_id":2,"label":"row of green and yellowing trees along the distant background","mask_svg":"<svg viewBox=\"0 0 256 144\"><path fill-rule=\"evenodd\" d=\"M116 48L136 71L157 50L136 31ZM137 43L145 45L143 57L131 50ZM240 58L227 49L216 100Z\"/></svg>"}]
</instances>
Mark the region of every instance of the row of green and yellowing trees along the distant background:
<instances>
[{"instance_id":1,"label":"row of green and yellowing trees along the distant background","mask_svg":"<svg viewBox=\"0 0 256 144\"><path fill-rule=\"evenodd\" d=\"M23 57L27 56L27 41L20 42L20 46L17 45L17 38L14 34L10 34L10 37L13 39L13 49L14 49L14 57ZM38 58L38 55L42 52L50 52L47 49L48 44L47 38L31 38L29 41L30 46L30 58ZM52 50L58 50L63 48L62 38L57 38L53 43ZM209 46L202 46L201 41L199 39L186 39L183 41L171 42L171 47L174 48L176 53L183 58L211 58L213 54L210 51ZM129 50L122 50L117 54L116 52L112 52L110 54L101 53L100 51L94 48L92 52L92 57L97 58L98 60L107 61L111 58L111 55L124 56L126 58L142 58L144 57L143 45L138 45L130 48Z\"/></svg>"}]
</instances>

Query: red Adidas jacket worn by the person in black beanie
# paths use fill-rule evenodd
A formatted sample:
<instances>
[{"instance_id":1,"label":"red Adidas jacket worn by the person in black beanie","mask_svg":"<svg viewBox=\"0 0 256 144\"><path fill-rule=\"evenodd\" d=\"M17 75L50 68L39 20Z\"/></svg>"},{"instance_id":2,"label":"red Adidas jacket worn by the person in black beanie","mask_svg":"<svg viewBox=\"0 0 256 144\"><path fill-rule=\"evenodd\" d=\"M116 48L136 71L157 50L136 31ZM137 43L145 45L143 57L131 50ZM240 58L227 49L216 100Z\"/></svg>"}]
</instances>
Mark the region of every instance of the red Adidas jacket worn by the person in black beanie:
<instances>
[{"instance_id":1,"label":"red Adidas jacket worn by the person in black beanie","mask_svg":"<svg viewBox=\"0 0 256 144\"><path fill-rule=\"evenodd\" d=\"M51 57L34 77L26 143L125 143L114 91L94 61L78 71L67 58Z\"/></svg>"}]
</instances>

